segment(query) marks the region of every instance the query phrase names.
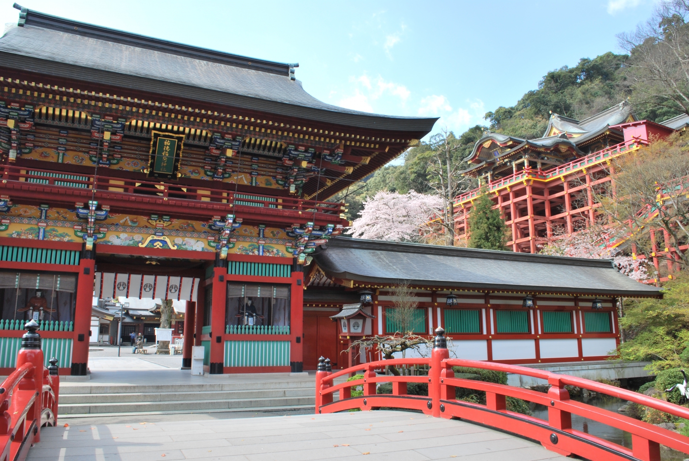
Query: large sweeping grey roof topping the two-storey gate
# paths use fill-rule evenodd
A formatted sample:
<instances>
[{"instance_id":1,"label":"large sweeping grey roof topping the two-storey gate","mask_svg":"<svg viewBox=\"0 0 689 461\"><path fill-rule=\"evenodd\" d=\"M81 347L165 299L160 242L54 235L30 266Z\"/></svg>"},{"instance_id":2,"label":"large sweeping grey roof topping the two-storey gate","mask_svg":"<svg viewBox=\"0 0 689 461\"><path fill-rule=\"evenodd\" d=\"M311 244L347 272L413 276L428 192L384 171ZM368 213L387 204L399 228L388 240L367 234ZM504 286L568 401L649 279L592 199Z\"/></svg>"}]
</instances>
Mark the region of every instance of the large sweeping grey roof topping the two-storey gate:
<instances>
[{"instance_id":1,"label":"large sweeping grey roof topping the two-storey gate","mask_svg":"<svg viewBox=\"0 0 689 461\"><path fill-rule=\"evenodd\" d=\"M119 74L145 79L144 85L132 79L132 87L141 90L172 94L169 86L147 83L153 81L185 85L209 90L209 92L241 96L242 99L233 101L234 105L238 107L244 105L247 109L266 110L265 103L254 102L252 105L251 101L268 101L269 103L291 107L291 111L289 109L282 111L289 112L287 115L302 116L306 119L328 119L328 114L331 114L332 120L325 121L384 130L428 132L437 120L435 118L420 119L369 114L330 105L307 93L302 88L300 81L293 81L289 78L288 72L280 74L277 70L275 72L252 70L245 68L245 66L223 63L225 61L218 62L222 61L223 56L234 57L234 55L189 47L188 45L178 45L178 48L183 48L183 52L175 52L164 47L151 49L147 44L147 37L77 23L42 13L30 12L30 14L39 15L41 19L53 19L56 23L74 23L76 24L75 30L83 25L89 30L102 32L95 37L103 37L104 39L94 38L94 34L83 36L77 32L65 32L66 28L54 30L46 28L47 26L37 27L30 25L31 21L28 21L23 27L8 25L3 36L0 37L0 54L3 55L0 57L0 65L67 76L64 74L67 71L63 70L63 67L53 64L59 63L68 66L68 68L75 68L72 73L86 81L116 84L114 81L108 81L108 77L104 74ZM31 16L29 17L31 18ZM41 25L43 25L42 22ZM105 39L110 37L106 32L110 32L110 35L114 36L112 41ZM137 46L136 41L132 40L127 40L125 43L133 43L133 45L119 43L122 40L117 41L118 33L125 38L130 36L141 37L141 46ZM156 42L155 39L148 39L148 41ZM172 43L172 45L175 44ZM251 61L251 58L245 59L247 62ZM273 67L282 65L269 63L269 61L262 62L266 63L264 67L270 64L274 64ZM289 69L287 65L282 66ZM88 70L96 72L89 72ZM189 92L185 92L183 89L178 90L178 93L174 95L189 97ZM207 96L207 101L223 103L217 97L214 98L212 94ZM275 112L280 113L277 110L278 107L274 107L274 109L276 109Z\"/></svg>"}]
</instances>

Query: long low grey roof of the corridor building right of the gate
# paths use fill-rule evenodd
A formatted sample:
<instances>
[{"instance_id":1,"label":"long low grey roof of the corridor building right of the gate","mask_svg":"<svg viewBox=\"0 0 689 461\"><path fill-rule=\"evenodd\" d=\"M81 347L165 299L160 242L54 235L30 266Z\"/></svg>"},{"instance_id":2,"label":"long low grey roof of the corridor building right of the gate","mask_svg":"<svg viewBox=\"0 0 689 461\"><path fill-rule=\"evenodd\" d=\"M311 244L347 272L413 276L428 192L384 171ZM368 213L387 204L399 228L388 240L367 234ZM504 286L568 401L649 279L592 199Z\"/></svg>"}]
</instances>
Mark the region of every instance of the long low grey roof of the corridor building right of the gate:
<instances>
[{"instance_id":1,"label":"long low grey roof of the corridor building right of the gate","mask_svg":"<svg viewBox=\"0 0 689 461\"><path fill-rule=\"evenodd\" d=\"M440 289L660 298L620 274L612 260L566 258L336 237L313 259L349 287L408 283Z\"/></svg>"}]
</instances>

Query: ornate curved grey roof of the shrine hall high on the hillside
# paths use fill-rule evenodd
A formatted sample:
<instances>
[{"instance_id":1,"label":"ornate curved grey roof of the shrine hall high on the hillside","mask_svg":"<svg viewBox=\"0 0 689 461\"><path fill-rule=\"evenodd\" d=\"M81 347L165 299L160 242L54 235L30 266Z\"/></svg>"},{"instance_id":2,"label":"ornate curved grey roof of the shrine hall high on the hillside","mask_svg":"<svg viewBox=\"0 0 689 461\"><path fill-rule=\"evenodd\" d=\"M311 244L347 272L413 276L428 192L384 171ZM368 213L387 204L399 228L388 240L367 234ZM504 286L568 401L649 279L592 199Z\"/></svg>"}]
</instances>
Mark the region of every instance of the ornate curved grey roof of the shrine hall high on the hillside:
<instances>
[{"instance_id":1,"label":"ornate curved grey roof of the shrine hall high on the hillside","mask_svg":"<svg viewBox=\"0 0 689 461\"><path fill-rule=\"evenodd\" d=\"M636 118L629 103L623 101L582 121L551 114L546 131L537 139L487 133L466 158L474 166L462 174L488 175L493 181L522 167L545 170L561 165L624 141L624 133L615 125L630 121Z\"/></svg>"}]
</instances>

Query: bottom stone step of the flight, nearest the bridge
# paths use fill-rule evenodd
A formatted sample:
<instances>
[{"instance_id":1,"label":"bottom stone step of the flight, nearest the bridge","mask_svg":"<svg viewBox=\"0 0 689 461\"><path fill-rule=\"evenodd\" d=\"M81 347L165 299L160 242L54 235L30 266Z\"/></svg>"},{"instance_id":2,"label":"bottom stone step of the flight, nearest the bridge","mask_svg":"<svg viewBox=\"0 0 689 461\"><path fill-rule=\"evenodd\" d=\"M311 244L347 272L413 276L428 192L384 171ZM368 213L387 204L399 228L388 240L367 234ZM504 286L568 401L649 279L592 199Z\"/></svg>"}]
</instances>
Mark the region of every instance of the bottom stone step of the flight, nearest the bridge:
<instances>
[{"instance_id":1,"label":"bottom stone step of the flight, nearest the bridge","mask_svg":"<svg viewBox=\"0 0 689 461\"><path fill-rule=\"evenodd\" d=\"M240 398L220 400L177 400L167 402L123 402L123 403L72 403L60 402L59 415L84 415L103 413L149 413L158 411L186 411L207 412L230 409L257 409L273 407L288 409L302 405L315 405L314 396L301 397L272 397L272 398Z\"/></svg>"}]
</instances>

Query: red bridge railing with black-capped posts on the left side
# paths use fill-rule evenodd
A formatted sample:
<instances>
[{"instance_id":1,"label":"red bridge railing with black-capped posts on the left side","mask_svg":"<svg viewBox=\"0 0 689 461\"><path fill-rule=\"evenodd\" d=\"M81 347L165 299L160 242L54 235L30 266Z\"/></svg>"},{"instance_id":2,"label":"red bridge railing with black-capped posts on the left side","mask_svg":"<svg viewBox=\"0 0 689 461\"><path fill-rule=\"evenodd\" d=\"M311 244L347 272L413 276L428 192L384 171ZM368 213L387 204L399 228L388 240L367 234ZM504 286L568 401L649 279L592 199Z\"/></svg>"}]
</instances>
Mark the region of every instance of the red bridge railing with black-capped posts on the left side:
<instances>
[{"instance_id":1,"label":"red bridge railing with black-capped posts on the left side","mask_svg":"<svg viewBox=\"0 0 689 461\"><path fill-rule=\"evenodd\" d=\"M57 359L43 366L38 327L34 320L25 325L17 369L0 387L0 461L25 460L30 447L41 440L41 427L57 422Z\"/></svg>"}]
</instances>

